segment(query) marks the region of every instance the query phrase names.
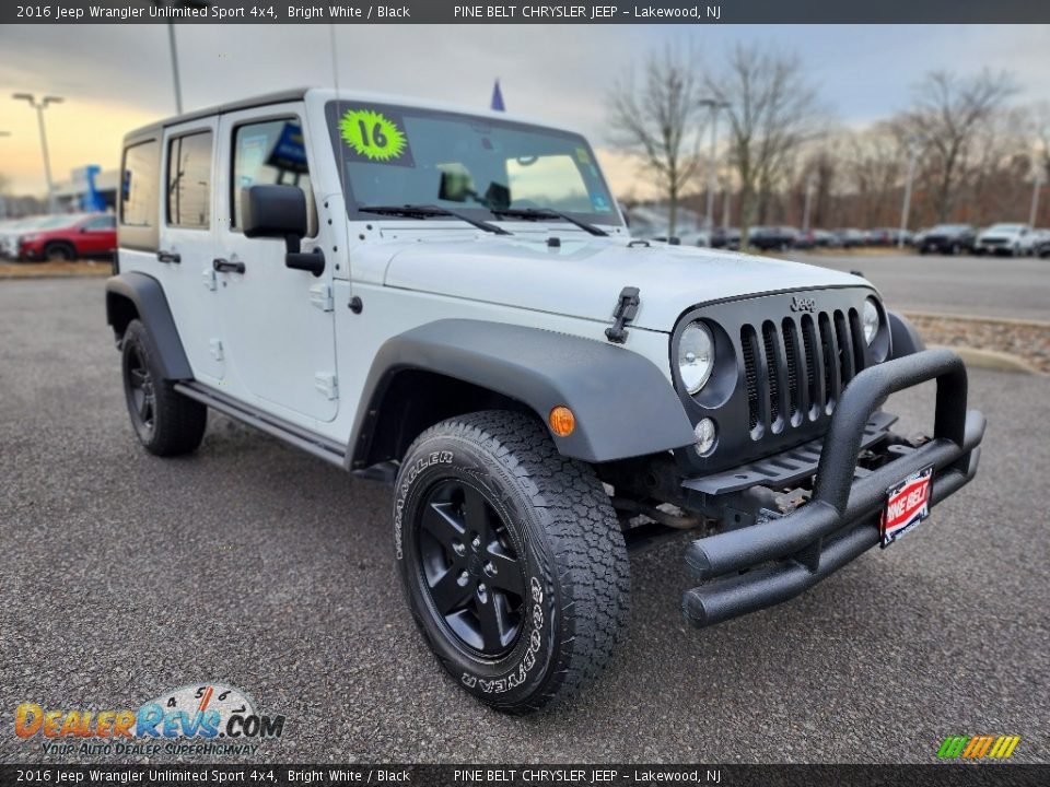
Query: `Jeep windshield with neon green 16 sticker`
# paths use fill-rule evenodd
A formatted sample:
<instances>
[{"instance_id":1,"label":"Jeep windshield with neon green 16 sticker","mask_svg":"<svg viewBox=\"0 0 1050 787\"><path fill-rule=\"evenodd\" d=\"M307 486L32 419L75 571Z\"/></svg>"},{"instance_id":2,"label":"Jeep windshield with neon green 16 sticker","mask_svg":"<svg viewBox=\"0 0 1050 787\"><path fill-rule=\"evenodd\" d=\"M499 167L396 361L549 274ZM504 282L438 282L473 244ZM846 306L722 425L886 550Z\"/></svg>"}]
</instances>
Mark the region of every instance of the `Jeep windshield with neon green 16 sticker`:
<instances>
[{"instance_id":1,"label":"Jeep windshield with neon green 16 sticker","mask_svg":"<svg viewBox=\"0 0 1050 787\"><path fill-rule=\"evenodd\" d=\"M328 124L348 212L436 205L492 220L492 210L555 210L620 225L583 137L447 111L330 102ZM372 215L362 218L374 218Z\"/></svg>"}]
</instances>

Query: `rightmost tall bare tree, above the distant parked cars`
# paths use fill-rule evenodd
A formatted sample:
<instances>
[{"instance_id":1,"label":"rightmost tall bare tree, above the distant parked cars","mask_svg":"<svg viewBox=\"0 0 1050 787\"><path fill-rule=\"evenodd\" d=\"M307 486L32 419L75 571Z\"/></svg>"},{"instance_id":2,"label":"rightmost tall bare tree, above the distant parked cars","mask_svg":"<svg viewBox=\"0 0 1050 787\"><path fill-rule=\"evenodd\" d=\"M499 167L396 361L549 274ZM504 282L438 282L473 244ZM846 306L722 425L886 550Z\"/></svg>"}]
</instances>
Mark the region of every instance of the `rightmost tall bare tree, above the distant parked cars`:
<instances>
[{"instance_id":1,"label":"rightmost tall bare tree, above the distant parked cars","mask_svg":"<svg viewBox=\"0 0 1050 787\"><path fill-rule=\"evenodd\" d=\"M934 169L938 222L947 221L952 212L977 133L1015 92L1010 74L987 69L969 78L933 71L917 86L908 125L922 140Z\"/></svg>"}]
</instances>

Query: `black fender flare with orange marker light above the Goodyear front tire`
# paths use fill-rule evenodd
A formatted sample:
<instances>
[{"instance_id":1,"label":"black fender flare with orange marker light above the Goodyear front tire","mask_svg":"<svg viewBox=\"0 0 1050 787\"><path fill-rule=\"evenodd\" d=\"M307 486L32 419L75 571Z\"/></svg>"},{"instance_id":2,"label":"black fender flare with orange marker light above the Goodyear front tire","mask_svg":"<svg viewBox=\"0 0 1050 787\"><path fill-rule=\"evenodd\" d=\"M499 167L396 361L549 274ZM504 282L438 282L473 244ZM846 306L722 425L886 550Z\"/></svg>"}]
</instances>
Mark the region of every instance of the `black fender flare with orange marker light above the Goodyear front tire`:
<instances>
[{"instance_id":1,"label":"black fender flare with orange marker light above the Goodyear front tire","mask_svg":"<svg viewBox=\"0 0 1050 787\"><path fill-rule=\"evenodd\" d=\"M551 437L563 456L574 459L612 461L696 439L670 381L635 352L538 328L445 319L393 337L380 348L365 380L348 460L368 450L384 391L405 369L441 374L515 399L545 425L552 408L570 408L575 430L567 437Z\"/></svg>"}]
</instances>

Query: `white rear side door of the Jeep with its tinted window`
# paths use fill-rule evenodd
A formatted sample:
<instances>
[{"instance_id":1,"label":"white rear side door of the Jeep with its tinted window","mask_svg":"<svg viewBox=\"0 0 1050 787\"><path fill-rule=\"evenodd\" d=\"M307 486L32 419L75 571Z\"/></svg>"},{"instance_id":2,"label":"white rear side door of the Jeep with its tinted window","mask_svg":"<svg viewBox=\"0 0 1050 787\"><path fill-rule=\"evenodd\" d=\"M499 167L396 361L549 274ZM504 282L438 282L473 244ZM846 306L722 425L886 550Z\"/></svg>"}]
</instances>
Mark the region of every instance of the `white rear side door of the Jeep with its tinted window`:
<instances>
[{"instance_id":1,"label":"white rear side door of the Jeep with its tinted window","mask_svg":"<svg viewBox=\"0 0 1050 787\"><path fill-rule=\"evenodd\" d=\"M202 118L164 131L161 232L156 278L194 376L221 385L225 377L215 258L214 191L218 119Z\"/></svg>"}]
</instances>

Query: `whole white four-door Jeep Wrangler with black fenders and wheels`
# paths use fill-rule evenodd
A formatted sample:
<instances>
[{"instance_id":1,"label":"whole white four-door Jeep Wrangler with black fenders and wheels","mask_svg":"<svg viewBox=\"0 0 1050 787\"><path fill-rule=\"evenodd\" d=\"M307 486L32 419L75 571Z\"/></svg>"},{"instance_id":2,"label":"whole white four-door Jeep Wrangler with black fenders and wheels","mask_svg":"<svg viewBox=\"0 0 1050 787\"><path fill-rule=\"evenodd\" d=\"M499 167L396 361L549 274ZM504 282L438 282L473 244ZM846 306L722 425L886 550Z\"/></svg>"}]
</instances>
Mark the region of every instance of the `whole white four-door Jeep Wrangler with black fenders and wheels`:
<instances>
[{"instance_id":1,"label":"whole white four-door Jeep Wrangler with black fenders and wheels","mask_svg":"<svg viewBox=\"0 0 1050 787\"><path fill-rule=\"evenodd\" d=\"M305 90L135 131L122 172L106 308L139 441L192 451L211 408L393 484L416 622L495 707L602 673L632 545L696 531L708 626L977 470L957 355L858 275L631 239L571 131ZM883 402L933 379L932 437L895 434Z\"/></svg>"}]
</instances>

